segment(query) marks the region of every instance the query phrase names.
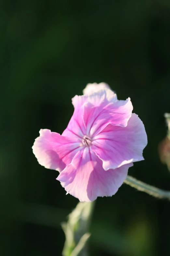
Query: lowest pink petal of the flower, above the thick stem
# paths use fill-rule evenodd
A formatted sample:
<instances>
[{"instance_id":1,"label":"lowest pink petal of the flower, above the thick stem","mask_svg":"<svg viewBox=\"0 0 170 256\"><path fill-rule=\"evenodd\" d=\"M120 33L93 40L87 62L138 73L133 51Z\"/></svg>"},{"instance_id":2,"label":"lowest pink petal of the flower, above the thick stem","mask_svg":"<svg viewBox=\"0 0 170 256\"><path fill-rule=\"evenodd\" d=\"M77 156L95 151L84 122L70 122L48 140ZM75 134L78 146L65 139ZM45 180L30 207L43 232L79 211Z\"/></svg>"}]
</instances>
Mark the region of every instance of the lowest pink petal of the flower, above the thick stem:
<instances>
[{"instance_id":1,"label":"lowest pink petal of the flower, above the thick stem","mask_svg":"<svg viewBox=\"0 0 170 256\"><path fill-rule=\"evenodd\" d=\"M77 197L81 202L94 201L97 196L112 196L127 177L126 164L115 170L105 171L102 161L89 147L81 149L72 162L60 173L57 180L67 193Z\"/></svg>"}]
</instances>

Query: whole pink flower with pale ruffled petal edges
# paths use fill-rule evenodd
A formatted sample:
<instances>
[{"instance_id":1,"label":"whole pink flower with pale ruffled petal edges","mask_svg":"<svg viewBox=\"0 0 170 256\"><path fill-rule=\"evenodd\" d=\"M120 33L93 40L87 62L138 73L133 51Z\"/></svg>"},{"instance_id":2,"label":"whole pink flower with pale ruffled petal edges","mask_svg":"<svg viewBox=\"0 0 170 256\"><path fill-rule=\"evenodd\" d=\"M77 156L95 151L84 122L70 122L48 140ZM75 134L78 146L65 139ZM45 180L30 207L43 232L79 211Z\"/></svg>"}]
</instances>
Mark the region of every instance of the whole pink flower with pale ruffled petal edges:
<instances>
[{"instance_id":1,"label":"whole pink flower with pale ruffled petal edges","mask_svg":"<svg viewBox=\"0 0 170 256\"><path fill-rule=\"evenodd\" d=\"M105 83L88 84L84 93L72 99L75 110L63 134L41 129L33 152L41 165L60 172L67 193L89 202L118 191L133 162L144 160L147 135L130 98L117 100Z\"/></svg>"}]
</instances>

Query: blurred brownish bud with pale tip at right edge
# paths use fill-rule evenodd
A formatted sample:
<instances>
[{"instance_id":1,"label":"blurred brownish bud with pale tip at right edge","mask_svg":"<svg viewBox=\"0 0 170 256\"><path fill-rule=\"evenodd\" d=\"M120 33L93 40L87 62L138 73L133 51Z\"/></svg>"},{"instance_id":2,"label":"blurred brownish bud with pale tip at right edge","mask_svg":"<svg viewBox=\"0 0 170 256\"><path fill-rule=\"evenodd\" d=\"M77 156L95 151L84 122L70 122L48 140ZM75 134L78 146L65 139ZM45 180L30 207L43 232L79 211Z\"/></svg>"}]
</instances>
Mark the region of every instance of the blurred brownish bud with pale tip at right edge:
<instances>
[{"instance_id":1,"label":"blurred brownish bud with pale tip at right edge","mask_svg":"<svg viewBox=\"0 0 170 256\"><path fill-rule=\"evenodd\" d=\"M161 162L167 164L168 170L170 171L170 113L165 113L166 124L168 126L167 136L159 144L159 156Z\"/></svg>"}]
</instances>

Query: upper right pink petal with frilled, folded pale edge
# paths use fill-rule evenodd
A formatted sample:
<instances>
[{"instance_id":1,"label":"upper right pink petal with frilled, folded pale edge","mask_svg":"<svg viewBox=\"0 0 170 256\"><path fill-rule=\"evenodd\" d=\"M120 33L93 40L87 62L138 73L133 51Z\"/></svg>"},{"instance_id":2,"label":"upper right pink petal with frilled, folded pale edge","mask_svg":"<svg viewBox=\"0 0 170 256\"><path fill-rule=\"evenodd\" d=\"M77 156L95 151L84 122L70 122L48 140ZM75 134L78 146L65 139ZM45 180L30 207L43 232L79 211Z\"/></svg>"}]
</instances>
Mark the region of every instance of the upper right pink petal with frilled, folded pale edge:
<instances>
[{"instance_id":1,"label":"upper right pink petal with frilled, folded pale edge","mask_svg":"<svg viewBox=\"0 0 170 256\"><path fill-rule=\"evenodd\" d=\"M132 115L133 106L130 98L127 100L117 100L109 103L105 107L94 107L91 103L84 105L84 123L87 135L94 137L102 131L109 123L116 126L127 126Z\"/></svg>"}]
</instances>

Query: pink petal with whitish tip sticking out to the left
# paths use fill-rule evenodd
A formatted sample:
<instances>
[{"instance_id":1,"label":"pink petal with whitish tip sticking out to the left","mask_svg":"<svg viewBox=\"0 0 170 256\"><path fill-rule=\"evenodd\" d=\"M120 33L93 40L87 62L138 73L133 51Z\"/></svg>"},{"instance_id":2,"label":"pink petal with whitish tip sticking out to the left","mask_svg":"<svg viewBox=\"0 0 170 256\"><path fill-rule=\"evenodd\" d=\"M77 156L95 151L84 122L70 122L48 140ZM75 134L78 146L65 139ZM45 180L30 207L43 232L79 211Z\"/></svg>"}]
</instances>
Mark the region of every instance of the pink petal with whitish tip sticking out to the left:
<instances>
[{"instance_id":1,"label":"pink petal with whitish tip sticking out to the left","mask_svg":"<svg viewBox=\"0 0 170 256\"><path fill-rule=\"evenodd\" d=\"M80 142L73 142L48 129L41 129L39 133L32 147L33 153L38 162L48 169L62 171L82 148Z\"/></svg>"}]
</instances>

